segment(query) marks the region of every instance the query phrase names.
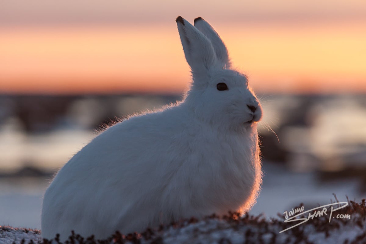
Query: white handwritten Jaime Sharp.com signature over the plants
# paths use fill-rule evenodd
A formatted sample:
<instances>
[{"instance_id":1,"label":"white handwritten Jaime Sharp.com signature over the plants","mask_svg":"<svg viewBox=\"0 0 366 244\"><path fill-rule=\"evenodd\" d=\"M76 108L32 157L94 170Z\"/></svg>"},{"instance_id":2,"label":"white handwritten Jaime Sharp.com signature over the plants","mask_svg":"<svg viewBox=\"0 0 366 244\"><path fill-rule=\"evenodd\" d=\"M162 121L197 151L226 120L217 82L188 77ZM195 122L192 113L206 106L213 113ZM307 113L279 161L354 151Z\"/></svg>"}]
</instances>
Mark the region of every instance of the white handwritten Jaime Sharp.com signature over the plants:
<instances>
[{"instance_id":1,"label":"white handwritten Jaime Sharp.com signature over the plants","mask_svg":"<svg viewBox=\"0 0 366 244\"><path fill-rule=\"evenodd\" d=\"M339 205L340 207L333 208L333 205ZM328 215L328 214L329 214L329 223L330 223L330 220L332 219L332 216L333 216L333 218L336 217L336 218L342 218L342 219L344 219L344 218L351 219L351 215L349 215L349 214L337 214L337 215L334 214L333 215L333 212L343 209L344 207L347 207L347 206L348 206L348 202L336 202L336 203L330 203L330 204L326 204L326 205L319 206L319 207L314 207L313 209L309 209L305 212L304 212L304 206L296 208L295 210L292 209L289 212L284 211L283 214L285 215L285 220L284 220L285 223L299 222L299 221L301 221L301 222L299 222L295 225L292 225L291 227L289 227L287 229L281 230L280 233L285 232L286 230L292 229L298 225L304 224L309 219L314 219L314 218L321 217L323 215ZM327 211L328 211L327 207L330 207L330 211L328 213L327 213ZM303 215L306 213L309 213L307 218L296 218L296 217L299 217L300 215Z\"/></svg>"}]
</instances>

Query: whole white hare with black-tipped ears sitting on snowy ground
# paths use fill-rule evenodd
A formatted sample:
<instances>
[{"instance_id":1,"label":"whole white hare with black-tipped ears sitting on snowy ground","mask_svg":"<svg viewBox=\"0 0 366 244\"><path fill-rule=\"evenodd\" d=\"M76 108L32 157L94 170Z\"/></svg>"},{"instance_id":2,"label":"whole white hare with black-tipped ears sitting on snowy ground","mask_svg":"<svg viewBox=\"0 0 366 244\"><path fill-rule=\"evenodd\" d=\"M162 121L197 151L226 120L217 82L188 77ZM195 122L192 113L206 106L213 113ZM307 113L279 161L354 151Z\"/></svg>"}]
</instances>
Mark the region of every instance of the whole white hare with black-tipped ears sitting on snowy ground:
<instances>
[{"instance_id":1,"label":"whole white hare with black-tipped ears sitting on snowy ground","mask_svg":"<svg viewBox=\"0 0 366 244\"><path fill-rule=\"evenodd\" d=\"M209 23L176 22L193 76L183 101L109 127L72 157L45 192L44 238L101 239L255 203L258 99Z\"/></svg>"}]
</instances>

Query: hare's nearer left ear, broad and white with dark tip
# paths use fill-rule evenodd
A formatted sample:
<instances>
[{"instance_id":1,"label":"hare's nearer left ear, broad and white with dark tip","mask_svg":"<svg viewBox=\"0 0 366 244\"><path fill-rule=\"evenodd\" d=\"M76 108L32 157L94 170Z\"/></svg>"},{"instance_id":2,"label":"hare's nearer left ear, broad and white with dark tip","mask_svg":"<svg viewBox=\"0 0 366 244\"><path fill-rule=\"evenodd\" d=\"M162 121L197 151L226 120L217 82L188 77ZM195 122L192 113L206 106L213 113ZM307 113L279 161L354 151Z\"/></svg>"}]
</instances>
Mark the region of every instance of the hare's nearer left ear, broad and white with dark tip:
<instances>
[{"instance_id":1,"label":"hare's nearer left ear, broad and white with dark tip","mask_svg":"<svg viewBox=\"0 0 366 244\"><path fill-rule=\"evenodd\" d=\"M208 38L181 16L176 18L184 55L194 77L207 75L218 61Z\"/></svg>"}]
</instances>

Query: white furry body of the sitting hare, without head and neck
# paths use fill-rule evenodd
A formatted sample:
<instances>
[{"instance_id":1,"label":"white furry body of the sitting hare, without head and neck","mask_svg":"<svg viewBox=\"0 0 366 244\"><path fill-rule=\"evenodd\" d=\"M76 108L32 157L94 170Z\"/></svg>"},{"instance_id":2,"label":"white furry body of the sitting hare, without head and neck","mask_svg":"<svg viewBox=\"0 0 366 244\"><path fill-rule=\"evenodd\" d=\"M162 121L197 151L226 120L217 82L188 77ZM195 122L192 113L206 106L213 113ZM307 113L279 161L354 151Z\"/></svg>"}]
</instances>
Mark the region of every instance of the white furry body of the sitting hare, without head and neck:
<instances>
[{"instance_id":1,"label":"white furry body of the sitting hare, without head and neck","mask_svg":"<svg viewBox=\"0 0 366 244\"><path fill-rule=\"evenodd\" d=\"M143 231L181 218L248 210L261 180L259 158L253 157L256 131L225 134L201 127L193 110L180 110L168 108L149 120L132 117L76 154L45 194L43 211L49 214L42 222L49 224L42 226L43 236L67 237L73 229L102 238L116 230ZM158 118L172 114L160 124ZM101 174L104 179L98 179Z\"/></svg>"}]
</instances>

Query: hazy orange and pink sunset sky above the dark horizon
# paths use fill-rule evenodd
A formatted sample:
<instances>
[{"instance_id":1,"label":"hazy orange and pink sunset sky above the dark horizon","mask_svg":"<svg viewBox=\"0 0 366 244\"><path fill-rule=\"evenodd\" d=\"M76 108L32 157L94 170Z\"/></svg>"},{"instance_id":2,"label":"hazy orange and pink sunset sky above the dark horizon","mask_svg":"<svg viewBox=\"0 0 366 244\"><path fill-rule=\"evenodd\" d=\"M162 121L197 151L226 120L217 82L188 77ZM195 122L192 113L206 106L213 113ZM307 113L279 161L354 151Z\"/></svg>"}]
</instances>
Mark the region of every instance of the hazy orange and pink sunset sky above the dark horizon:
<instances>
[{"instance_id":1,"label":"hazy orange and pink sunset sky above the dark horizon","mask_svg":"<svg viewBox=\"0 0 366 244\"><path fill-rule=\"evenodd\" d=\"M179 93L175 18L217 30L261 93L366 92L366 1L5 0L0 93Z\"/></svg>"}]
</instances>

